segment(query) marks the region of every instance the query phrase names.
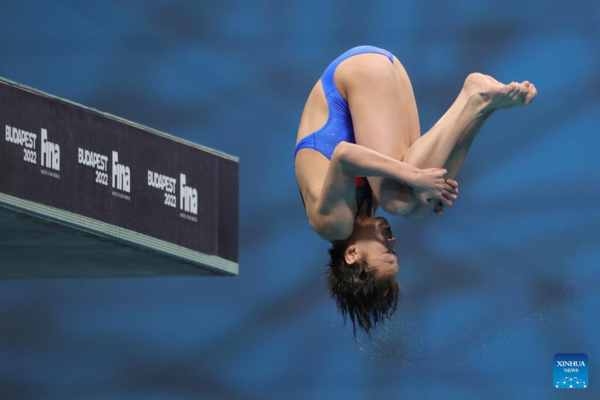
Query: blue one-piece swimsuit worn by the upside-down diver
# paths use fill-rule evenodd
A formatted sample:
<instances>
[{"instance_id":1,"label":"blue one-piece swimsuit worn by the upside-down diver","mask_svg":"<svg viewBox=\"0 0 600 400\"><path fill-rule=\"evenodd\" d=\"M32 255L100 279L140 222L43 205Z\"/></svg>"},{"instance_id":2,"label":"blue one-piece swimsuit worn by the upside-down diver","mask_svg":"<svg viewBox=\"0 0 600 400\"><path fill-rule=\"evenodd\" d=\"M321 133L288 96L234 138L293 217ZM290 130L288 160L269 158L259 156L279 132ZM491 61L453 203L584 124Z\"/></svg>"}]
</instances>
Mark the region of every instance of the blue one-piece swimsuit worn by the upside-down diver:
<instances>
[{"instance_id":1,"label":"blue one-piece swimsuit worn by the upside-down diver","mask_svg":"<svg viewBox=\"0 0 600 400\"><path fill-rule=\"evenodd\" d=\"M327 106L329 107L327 122L321 129L311 133L298 142L296 151L294 152L294 159L296 159L296 155L301 149L313 149L331 160L333 150L335 150L340 142L356 143L350 108L348 107L346 100L344 100L338 92L333 79L333 74L342 61L363 53L383 54L390 59L392 64L394 63L392 53L387 50L375 46L358 46L346 51L329 64L323 75L321 75L321 84L323 85ZM298 187L298 189L300 189L300 187ZM302 197L302 192L300 192L300 196ZM371 216L371 210L373 209L373 191L366 178L356 177L355 201L357 215L363 203L367 201L367 215ZM302 203L304 204L304 208L306 208L304 197L302 197Z\"/></svg>"}]
</instances>

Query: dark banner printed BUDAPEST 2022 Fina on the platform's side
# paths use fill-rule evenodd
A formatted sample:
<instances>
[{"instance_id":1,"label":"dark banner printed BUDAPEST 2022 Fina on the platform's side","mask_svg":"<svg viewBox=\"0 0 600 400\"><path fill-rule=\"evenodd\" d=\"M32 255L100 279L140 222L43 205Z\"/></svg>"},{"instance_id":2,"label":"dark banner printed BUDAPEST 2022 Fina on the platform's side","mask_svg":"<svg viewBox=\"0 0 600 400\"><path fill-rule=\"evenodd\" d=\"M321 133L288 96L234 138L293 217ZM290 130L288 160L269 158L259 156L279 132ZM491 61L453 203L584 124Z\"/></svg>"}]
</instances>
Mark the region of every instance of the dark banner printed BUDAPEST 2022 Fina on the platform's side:
<instances>
[{"instance_id":1,"label":"dark banner printed BUDAPEST 2022 Fina on the platform's side","mask_svg":"<svg viewBox=\"0 0 600 400\"><path fill-rule=\"evenodd\" d=\"M0 124L0 192L238 261L234 158L3 80Z\"/></svg>"}]
</instances>

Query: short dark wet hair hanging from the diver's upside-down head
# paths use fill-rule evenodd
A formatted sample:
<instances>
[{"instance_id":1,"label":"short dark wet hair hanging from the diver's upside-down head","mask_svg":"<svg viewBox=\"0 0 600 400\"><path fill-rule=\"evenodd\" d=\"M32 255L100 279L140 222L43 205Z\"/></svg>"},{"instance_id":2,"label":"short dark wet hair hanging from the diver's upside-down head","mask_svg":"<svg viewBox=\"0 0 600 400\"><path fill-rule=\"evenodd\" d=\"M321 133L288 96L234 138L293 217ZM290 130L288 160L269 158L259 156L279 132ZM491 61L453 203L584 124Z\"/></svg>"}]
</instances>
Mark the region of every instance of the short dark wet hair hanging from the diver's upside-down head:
<instances>
[{"instance_id":1,"label":"short dark wet hair hanging from the diver's upside-down head","mask_svg":"<svg viewBox=\"0 0 600 400\"><path fill-rule=\"evenodd\" d=\"M377 324L383 325L384 319L390 319L396 312L400 285L394 275L377 276L377 270L363 260L348 264L345 258L347 247L347 241L341 241L334 242L329 249L327 286L344 317L344 326L346 317L350 316L354 338L357 325L371 338L371 331Z\"/></svg>"}]
</instances>

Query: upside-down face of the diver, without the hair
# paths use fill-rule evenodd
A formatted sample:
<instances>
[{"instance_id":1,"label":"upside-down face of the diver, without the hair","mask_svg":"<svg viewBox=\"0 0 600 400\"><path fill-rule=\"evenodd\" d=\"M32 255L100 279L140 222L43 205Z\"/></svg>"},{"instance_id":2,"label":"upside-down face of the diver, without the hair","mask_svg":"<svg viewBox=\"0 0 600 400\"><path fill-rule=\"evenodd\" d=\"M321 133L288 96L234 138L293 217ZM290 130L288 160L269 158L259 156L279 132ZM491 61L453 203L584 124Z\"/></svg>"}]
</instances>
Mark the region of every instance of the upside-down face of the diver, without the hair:
<instances>
[{"instance_id":1,"label":"upside-down face of the diver, without the hair","mask_svg":"<svg viewBox=\"0 0 600 400\"><path fill-rule=\"evenodd\" d=\"M353 263L362 258L370 266L377 268L378 274L396 275L398 258L394 246L396 239L389 222L383 218L357 219L351 244L346 250L346 261Z\"/></svg>"}]
</instances>

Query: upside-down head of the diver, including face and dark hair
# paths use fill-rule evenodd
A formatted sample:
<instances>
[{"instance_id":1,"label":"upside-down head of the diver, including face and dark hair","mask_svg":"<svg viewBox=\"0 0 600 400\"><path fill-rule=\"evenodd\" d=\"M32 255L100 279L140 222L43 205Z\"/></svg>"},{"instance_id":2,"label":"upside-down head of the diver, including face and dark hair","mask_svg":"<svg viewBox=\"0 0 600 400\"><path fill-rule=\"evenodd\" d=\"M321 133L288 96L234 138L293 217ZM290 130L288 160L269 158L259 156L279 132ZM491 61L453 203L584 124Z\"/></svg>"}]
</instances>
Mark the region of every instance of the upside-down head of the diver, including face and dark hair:
<instances>
[{"instance_id":1,"label":"upside-down head of the diver, including face and dark hair","mask_svg":"<svg viewBox=\"0 0 600 400\"><path fill-rule=\"evenodd\" d=\"M396 311L400 285L395 243L385 218L359 215L352 235L333 241L329 249L327 284L344 324L350 316L355 337L357 325L370 336L377 323Z\"/></svg>"}]
</instances>

